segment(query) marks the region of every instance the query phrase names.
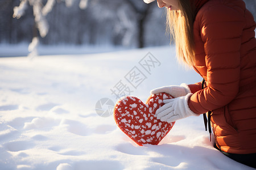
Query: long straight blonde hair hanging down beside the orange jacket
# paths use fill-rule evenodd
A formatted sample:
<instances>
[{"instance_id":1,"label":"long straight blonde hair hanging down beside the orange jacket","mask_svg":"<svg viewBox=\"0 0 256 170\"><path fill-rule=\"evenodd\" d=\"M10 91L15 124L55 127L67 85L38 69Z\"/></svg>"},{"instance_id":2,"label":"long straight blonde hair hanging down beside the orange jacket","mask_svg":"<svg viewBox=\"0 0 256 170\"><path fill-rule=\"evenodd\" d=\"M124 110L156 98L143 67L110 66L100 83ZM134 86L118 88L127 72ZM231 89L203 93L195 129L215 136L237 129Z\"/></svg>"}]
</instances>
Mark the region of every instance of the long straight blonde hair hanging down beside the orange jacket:
<instances>
[{"instance_id":1,"label":"long straight blonde hair hanging down beside the orange jacket","mask_svg":"<svg viewBox=\"0 0 256 170\"><path fill-rule=\"evenodd\" d=\"M195 41L193 37L194 11L188 0L179 1L180 10L167 9L167 32L171 33L171 41L175 40L176 57L179 62L188 66L195 63Z\"/></svg>"}]
</instances>

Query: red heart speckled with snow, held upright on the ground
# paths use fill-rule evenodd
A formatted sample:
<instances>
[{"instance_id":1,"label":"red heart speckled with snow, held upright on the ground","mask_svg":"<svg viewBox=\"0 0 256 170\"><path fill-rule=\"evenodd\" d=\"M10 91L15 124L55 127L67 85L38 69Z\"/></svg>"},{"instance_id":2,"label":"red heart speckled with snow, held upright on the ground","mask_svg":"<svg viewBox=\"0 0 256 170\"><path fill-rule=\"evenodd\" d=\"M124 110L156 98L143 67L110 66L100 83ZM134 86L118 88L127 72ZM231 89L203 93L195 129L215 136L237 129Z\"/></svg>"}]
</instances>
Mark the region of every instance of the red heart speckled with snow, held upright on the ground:
<instances>
[{"instance_id":1,"label":"red heart speckled with snow, held upright on the ground","mask_svg":"<svg viewBox=\"0 0 256 170\"><path fill-rule=\"evenodd\" d=\"M155 111L161 107L163 99L172 99L169 94L160 93L148 97L146 104L134 96L122 97L114 107L117 126L139 146L158 145L172 129L175 122L156 119Z\"/></svg>"}]
</instances>

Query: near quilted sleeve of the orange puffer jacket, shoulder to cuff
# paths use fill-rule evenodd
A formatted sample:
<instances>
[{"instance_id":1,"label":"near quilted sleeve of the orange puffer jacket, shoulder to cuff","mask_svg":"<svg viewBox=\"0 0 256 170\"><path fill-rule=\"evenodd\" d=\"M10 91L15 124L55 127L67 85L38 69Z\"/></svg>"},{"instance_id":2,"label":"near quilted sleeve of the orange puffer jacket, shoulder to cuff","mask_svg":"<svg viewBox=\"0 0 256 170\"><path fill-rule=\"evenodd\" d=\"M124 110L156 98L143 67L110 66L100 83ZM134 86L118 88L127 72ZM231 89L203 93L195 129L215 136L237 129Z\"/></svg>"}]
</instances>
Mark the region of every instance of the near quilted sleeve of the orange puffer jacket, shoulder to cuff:
<instances>
[{"instance_id":1,"label":"near quilted sleeve of the orange puffer jacket, shoulder to cuff","mask_svg":"<svg viewBox=\"0 0 256 170\"><path fill-rule=\"evenodd\" d=\"M236 97L244 27L242 11L235 7L216 5L201 10L196 19L204 43L207 88L195 92L188 101L195 113L221 108Z\"/></svg>"}]
</instances>

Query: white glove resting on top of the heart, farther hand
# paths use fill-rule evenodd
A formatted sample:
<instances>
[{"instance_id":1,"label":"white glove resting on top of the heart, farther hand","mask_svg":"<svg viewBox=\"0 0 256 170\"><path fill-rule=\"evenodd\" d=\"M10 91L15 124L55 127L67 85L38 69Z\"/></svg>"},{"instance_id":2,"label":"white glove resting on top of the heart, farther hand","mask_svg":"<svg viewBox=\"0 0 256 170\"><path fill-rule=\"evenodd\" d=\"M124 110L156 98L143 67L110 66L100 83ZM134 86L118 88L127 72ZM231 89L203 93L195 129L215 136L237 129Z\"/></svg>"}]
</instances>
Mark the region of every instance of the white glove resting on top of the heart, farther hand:
<instances>
[{"instance_id":1,"label":"white glove resting on top of the heart, farther hand","mask_svg":"<svg viewBox=\"0 0 256 170\"><path fill-rule=\"evenodd\" d=\"M189 87L187 84L182 83L180 86L164 86L160 88L155 88L154 90L151 90L150 93L153 94L159 94L161 92L165 92L173 97L180 97L185 96L189 93L191 93Z\"/></svg>"}]
</instances>

